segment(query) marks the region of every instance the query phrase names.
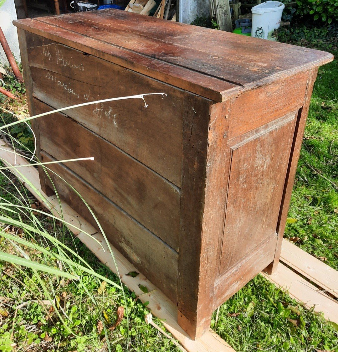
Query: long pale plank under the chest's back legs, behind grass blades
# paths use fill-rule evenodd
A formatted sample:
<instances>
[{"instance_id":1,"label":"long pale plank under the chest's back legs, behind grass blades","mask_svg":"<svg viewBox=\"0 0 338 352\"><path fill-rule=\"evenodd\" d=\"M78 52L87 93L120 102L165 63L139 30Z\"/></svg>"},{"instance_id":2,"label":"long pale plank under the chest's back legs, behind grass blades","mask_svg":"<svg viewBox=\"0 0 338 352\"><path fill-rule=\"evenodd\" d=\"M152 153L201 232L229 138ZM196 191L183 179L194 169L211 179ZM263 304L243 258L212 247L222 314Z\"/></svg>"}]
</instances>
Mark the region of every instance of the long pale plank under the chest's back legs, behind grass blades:
<instances>
[{"instance_id":1,"label":"long pale plank under the chest's back legs, behind grass blades","mask_svg":"<svg viewBox=\"0 0 338 352\"><path fill-rule=\"evenodd\" d=\"M14 164L14 154L11 153L11 149L4 145L5 143L0 140L0 159L6 165ZM28 161L26 161L21 156L17 156L16 165L27 165L23 168L12 169L13 173L20 178L19 172L25 175L28 180L37 188L38 192L34 189L27 187L27 189L40 201L45 204L48 208L51 208L54 214L59 213L59 203L56 197L47 197L40 188L40 181L38 171L30 166ZM47 202L44 202L45 198ZM206 332L201 338L197 340L191 340L188 335L183 331L183 329L178 325L177 322L177 307L150 281L146 279L145 276L139 274L135 278L127 276L130 271L136 271L136 268L128 262L128 260L122 256L113 246L110 246L117 263L118 271L115 267L113 259L111 258L108 250L108 245L105 243L103 235L97 233L95 228L86 222L80 215L78 215L70 206L65 202L61 202L64 219L69 222L74 222L77 226L81 226L81 230L87 233L92 233L93 237L101 242L102 247L99 247L96 241L75 229L70 229L77 235L77 237L96 255L102 263L107 265L111 271L115 274L120 275L122 282L128 286L128 288L135 292L136 295L140 295L140 300L142 302L149 301L148 308L151 310L152 314L157 316L159 319L163 320L163 324L168 331L172 333L174 338L176 338L181 345L186 348L187 351L199 351L199 352L211 352L211 351L224 351L224 352L234 352L234 350L221 339L214 331L211 329ZM76 226L75 225L75 226ZM144 294L140 288L139 284L146 286L149 290L148 294Z\"/></svg>"}]
</instances>

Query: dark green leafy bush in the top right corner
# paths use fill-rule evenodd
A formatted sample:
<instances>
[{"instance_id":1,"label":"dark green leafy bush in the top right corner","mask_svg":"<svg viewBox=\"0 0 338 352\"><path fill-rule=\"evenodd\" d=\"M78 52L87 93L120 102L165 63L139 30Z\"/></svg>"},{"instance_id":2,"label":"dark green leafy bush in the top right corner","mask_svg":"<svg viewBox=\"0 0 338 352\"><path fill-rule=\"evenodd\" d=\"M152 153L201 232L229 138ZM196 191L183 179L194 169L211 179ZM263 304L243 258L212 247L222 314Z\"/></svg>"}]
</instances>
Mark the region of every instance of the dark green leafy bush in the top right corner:
<instances>
[{"instance_id":1,"label":"dark green leafy bush in the top right corner","mask_svg":"<svg viewBox=\"0 0 338 352\"><path fill-rule=\"evenodd\" d=\"M314 20L321 19L325 23L338 21L338 0L297 0L296 13L313 15Z\"/></svg>"}]
</instances>

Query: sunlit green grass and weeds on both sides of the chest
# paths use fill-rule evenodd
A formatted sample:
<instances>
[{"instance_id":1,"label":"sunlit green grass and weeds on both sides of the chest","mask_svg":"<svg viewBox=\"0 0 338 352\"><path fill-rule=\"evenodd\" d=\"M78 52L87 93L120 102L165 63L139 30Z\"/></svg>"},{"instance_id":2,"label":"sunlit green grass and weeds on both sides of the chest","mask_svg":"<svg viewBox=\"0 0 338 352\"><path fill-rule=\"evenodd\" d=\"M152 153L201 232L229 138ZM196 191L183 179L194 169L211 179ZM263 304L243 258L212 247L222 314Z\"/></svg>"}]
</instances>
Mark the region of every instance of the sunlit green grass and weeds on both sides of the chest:
<instances>
[{"instance_id":1,"label":"sunlit green grass and weeds on both sides of the chest","mask_svg":"<svg viewBox=\"0 0 338 352\"><path fill-rule=\"evenodd\" d=\"M338 56L338 52L333 53ZM23 92L22 87L10 82L9 79L6 81L8 88L12 84L18 92ZM285 230L286 238L294 238L296 245L335 269L338 267L337 82L338 61L335 60L320 68L315 82ZM2 115L9 121L9 115ZM12 132L32 147L27 128L16 127ZM15 177L11 179L15 180ZM1 175L0 186L7 190L2 190L1 196L14 201L15 189ZM30 200L35 202L32 196ZM60 239L66 238L67 244L81 253L97 273L119 283L118 278L81 242L75 239L73 243L67 230L62 226L52 226L51 220L45 216L37 216L51 234ZM10 231L17 233L18 229L11 228ZM20 236L26 237L26 233ZM8 253L18 251L1 237L0 250ZM42 253L29 253L31 259L51 264ZM72 257L72 260L77 259ZM130 351L178 351L172 341L145 323L144 315L148 310L127 288L125 302L121 291L111 285L106 285L102 293L102 282L91 275L82 273L83 286L67 280L65 285L60 285L60 281L50 275L44 275L43 280L47 287L55 290L59 304L70 316L78 336L74 337L65 330L55 312L48 313L50 304L32 302L47 298L31 269L20 270L11 263L0 262L1 352L7 351L1 346L12 343L16 344L14 350L19 348L20 351L107 351L107 340L102 332L98 332L100 313L107 314L105 323L109 328L115 322L119 306L128 307ZM88 298L85 290L95 296L97 304ZM16 309L23 303L21 308ZM155 322L161 325L158 319ZM338 351L337 325L331 325L314 311L305 309L261 275L220 307L217 322L216 312L213 314L211 326L237 351ZM108 337L113 351L126 350L126 318L114 331L109 331Z\"/></svg>"}]
</instances>

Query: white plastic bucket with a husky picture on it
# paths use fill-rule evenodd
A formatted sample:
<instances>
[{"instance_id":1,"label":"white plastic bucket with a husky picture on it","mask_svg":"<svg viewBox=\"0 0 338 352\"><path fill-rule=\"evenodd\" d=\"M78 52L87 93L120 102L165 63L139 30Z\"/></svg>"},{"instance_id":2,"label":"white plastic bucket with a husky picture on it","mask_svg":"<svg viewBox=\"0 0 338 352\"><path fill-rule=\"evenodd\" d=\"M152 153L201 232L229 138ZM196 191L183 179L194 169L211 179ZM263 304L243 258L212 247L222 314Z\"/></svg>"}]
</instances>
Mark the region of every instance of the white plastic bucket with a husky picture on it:
<instances>
[{"instance_id":1,"label":"white plastic bucket with a husky picture on it","mask_svg":"<svg viewBox=\"0 0 338 352\"><path fill-rule=\"evenodd\" d=\"M251 37L275 41L284 7L279 1L266 1L254 6L251 9Z\"/></svg>"}]
</instances>

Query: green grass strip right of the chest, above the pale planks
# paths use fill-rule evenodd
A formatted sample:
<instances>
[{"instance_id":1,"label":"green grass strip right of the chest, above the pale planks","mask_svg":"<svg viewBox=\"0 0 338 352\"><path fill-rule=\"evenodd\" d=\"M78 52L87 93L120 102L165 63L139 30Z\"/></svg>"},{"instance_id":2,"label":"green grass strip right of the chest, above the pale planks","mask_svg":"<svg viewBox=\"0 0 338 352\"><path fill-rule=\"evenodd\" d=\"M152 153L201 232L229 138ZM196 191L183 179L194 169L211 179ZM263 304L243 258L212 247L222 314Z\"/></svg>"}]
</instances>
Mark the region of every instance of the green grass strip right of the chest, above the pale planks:
<instances>
[{"instance_id":1,"label":"green grass strip right of the chest, above the pale planks","mask_svg":"<svg viewBox=\"0 0 338 352\"><path fill-rule=\"evenodd\" d=\"M338 51L334 52L338 56ZM338 60L314 85L285 237L338 269Z\"/></svg>"}]
</instances>

